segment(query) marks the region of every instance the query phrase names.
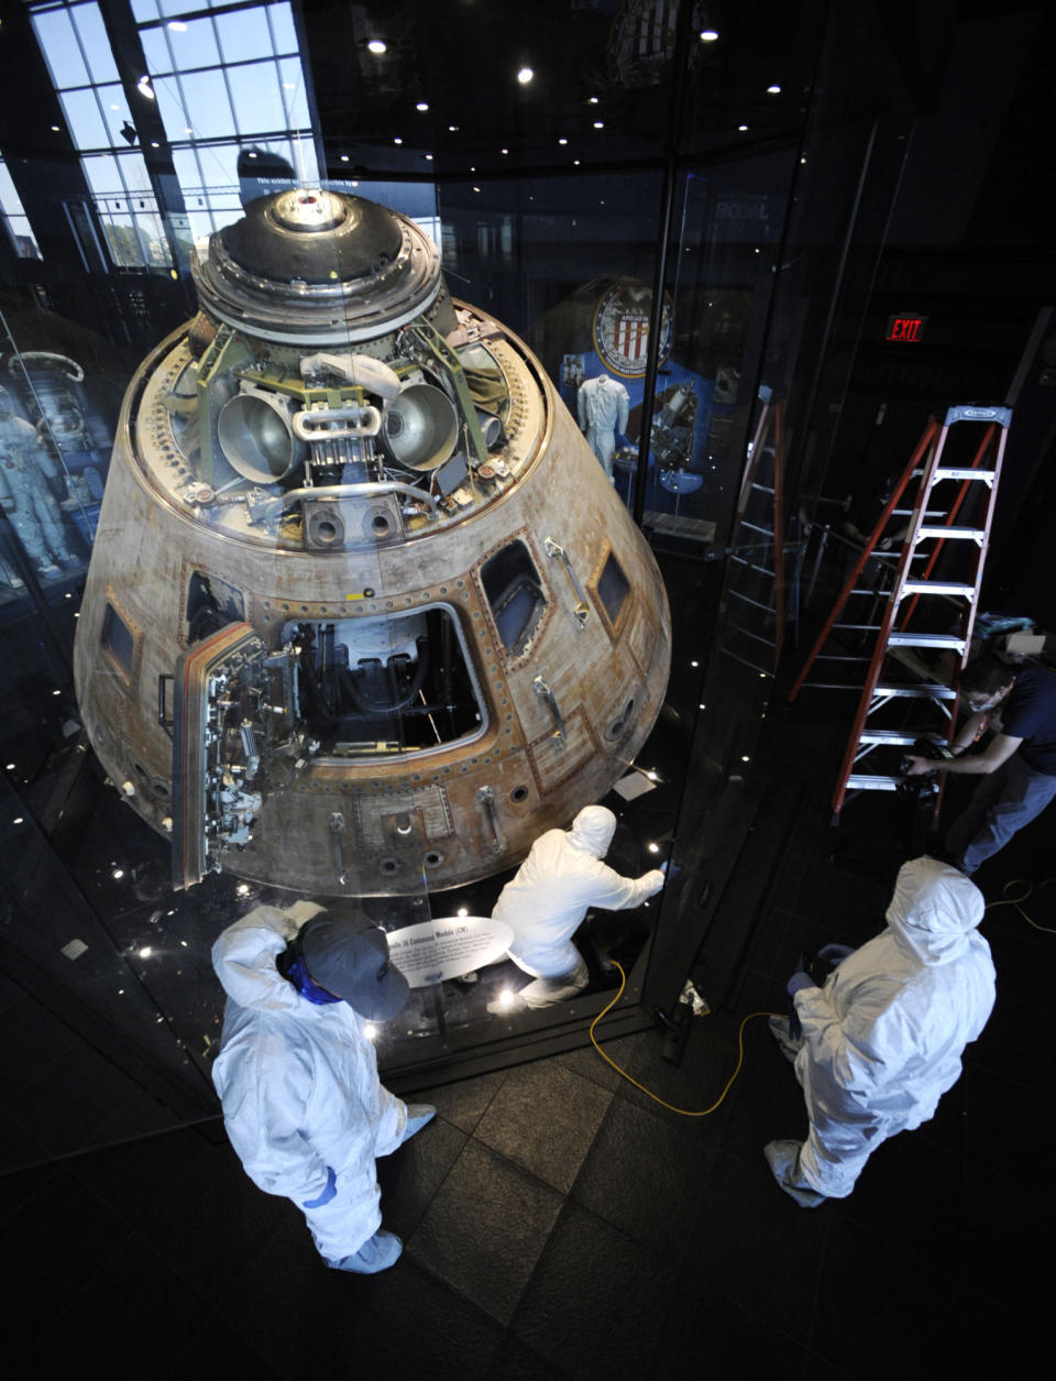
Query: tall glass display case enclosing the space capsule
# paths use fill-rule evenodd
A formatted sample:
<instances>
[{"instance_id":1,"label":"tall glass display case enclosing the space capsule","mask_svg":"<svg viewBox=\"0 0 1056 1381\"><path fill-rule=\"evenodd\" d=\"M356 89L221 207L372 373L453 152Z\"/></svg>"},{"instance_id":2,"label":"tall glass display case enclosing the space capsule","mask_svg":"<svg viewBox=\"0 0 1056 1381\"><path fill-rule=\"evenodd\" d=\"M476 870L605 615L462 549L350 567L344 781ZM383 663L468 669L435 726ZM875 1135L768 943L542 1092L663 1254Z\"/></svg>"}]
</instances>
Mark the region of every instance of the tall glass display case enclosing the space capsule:
<instances>
[{"instance_id":1,"label":"tall glass display case enclosing the space capsule","mask_svg":"<svg viewBox=\"0 0 1056 1381\"><path fill-rule=\"evenodd\" d=\"M398 1088L581 1044L624 981L603 1029L663 1019L705 936L721 996L904 134L830 7L722 8L4 19L4 972L145 1127L215 1110L254 906L388 932ZM594 802L667 881L526 1008L491 913Z\"/></svg>"}]
</instances>

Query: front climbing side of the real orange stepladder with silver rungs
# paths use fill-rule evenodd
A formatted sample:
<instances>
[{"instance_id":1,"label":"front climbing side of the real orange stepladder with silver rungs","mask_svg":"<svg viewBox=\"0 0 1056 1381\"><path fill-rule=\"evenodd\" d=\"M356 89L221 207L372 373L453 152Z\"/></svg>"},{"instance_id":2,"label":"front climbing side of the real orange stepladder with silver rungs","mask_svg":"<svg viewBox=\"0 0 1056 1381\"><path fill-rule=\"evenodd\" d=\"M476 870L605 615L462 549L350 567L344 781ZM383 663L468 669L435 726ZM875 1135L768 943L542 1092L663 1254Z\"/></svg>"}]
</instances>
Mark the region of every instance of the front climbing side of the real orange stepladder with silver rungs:
<instances>
[{"instance_id":1,"label":"front climbing side of the real orange stepladder with silver rungs","mask_svg":"<svg viewBox=\"0 0 1056 1381\"><path fill-rule=\"evenodd\" d=\"M968 403L950 407L946 413L921 481L894 587L841 764L832 795L834 820L839 818L849 791L897 790L903 782L897 758L903 754L896 757L896 750L911 747L921 739L944 744L954 737L957 686L972 644L1010 421L1010 407ZM951 456L951 452L965 447L972 456L969 464L961 464ZM929 516L933 492L943 486L950 493L954 483L958 487L948 504L947 519L936 523ZM914 673L925 670L930 675L906 679L907 659ZM915 726L883 728L879 721L892 706L899 707L900 715L908 706L919 722ZM922 715L921 711L929 714ZM940 804L941 783L935 793L936 819Z\"/></svg>"}]
</instances>

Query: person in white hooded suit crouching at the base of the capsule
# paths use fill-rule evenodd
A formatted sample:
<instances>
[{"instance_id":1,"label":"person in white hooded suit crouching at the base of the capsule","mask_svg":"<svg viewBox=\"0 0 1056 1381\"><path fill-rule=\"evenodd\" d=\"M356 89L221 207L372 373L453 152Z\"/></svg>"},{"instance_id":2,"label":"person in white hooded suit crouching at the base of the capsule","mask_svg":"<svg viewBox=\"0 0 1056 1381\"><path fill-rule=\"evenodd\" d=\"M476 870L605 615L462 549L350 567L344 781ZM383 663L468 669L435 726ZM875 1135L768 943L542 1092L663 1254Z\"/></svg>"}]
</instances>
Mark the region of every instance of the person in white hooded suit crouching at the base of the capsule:
<instances>
[{"instance_id":1,"label":"person in white hooded suit crouching at the base of the capsule","mask_svg":"<svg viewBox=\"0 0 1056 1381\"><path fill-rule=\"evenodd\" d=\"M502 888L491 918L514 932L509 958L534 982L509 1000L487 1004L490 1012L549 1007L587 986L588 971L571 942L587 907L629 910L664 885L661 869L639 878L621 877L602 862L616 833L616 816L588 805L570 830L540 834L512 881Z\"/></svg>"}]
</instances>

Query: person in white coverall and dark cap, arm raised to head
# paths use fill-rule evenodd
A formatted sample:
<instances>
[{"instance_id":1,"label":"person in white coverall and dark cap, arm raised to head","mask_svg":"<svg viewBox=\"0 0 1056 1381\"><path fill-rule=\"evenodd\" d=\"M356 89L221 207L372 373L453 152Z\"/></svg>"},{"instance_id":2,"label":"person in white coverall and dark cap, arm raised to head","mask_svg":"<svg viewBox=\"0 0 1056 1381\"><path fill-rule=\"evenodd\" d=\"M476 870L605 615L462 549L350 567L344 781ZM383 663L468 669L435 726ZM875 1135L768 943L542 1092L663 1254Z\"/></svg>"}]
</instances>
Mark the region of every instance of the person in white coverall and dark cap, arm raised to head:
<instances>
[{"instance_id":1,"label":"person in white coverall and dark cap, arm raised to head","mask_svg":"<svg viewBox=\"0 0 1056 1381\"><path fill-rule=\"evenodd\" d=\"M258 906L213 946L228 994L213 1083L250 1179L304 1213L329 1266L373 1275L402 1251L381 1228L374 1160L433 1116L382 1088L366 1022L395 1016L407 979L385 932L311 902Z\"/></svg>"}]
</instances>

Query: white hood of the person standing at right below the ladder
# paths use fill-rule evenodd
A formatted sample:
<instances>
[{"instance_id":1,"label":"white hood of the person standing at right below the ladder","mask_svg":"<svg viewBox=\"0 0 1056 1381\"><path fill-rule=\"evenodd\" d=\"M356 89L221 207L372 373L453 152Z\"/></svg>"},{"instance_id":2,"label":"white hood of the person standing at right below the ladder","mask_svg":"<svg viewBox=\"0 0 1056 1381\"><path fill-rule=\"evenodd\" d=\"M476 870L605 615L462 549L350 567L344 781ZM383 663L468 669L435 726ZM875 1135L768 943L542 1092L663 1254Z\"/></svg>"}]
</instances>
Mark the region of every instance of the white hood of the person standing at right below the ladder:
<instances>
[{"instance_id":1,"label":"white hood of the person standing at right below the ladder","mask_svg":"<svg viewBox=\"0 0 1056 1381\"><path fill-rule=\"evenodd\" d=\"M939 859L903 863L888 907L896 942L923 964L948 964L966 952L983 920L983 894L964 873Z\"/></svg>"}]
</instances>

